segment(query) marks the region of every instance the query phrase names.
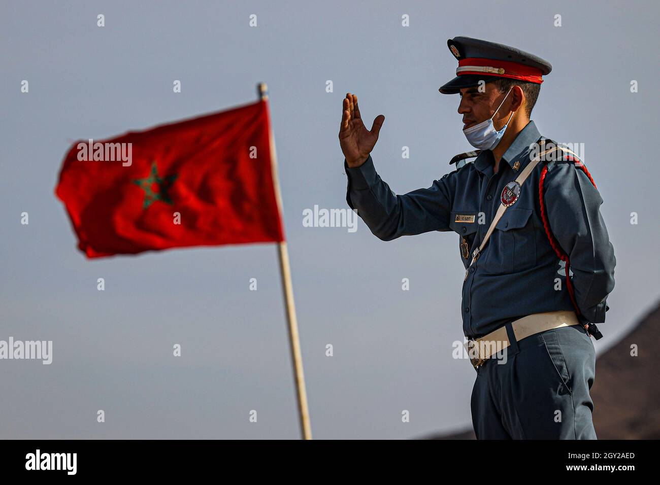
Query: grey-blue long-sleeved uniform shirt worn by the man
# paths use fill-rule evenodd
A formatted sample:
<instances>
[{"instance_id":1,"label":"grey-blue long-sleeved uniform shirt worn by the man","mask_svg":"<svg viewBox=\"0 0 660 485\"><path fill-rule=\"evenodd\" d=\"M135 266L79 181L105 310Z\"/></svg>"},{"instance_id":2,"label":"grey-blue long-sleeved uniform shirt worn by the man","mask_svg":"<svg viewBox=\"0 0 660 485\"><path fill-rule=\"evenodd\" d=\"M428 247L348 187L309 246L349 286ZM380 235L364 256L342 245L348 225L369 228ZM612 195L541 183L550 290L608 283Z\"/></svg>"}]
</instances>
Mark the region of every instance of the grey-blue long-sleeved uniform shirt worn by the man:
<instances>
[{"instance_id":1,"label":"grey-blue long-sleeved uniform shirt worn by the man","mask_svg":"<svg viewBox=\"0 0 660 485\"><path fill-rule=\"evenodd\" d=\"M383 241L422 232L453 231L465 238L467 268L501 201L502 190L531 160L530 146L541 135L533 121L518 134L493 173L494 158L483 150L474 162L450 172L428 189L397 195L376 173L369 156L362 166L344 168L347 202ZM519 162L518 170L514 170ZM592 323L605 321L607 295L614 288L614 247L601 216L601 195L573 162L539 162L506 209L479 259L463 282L463 334L479 338L517 318L574 310L566 288L564 262L548 241L539 205L539 178L548 166L544 203L552 234L570 259L580 312ZM479 224L483 212L483 224ZM463 222L471 220L475 222ZM442 271L442 270L441 270Z\"/></svg>"}]
</instances>

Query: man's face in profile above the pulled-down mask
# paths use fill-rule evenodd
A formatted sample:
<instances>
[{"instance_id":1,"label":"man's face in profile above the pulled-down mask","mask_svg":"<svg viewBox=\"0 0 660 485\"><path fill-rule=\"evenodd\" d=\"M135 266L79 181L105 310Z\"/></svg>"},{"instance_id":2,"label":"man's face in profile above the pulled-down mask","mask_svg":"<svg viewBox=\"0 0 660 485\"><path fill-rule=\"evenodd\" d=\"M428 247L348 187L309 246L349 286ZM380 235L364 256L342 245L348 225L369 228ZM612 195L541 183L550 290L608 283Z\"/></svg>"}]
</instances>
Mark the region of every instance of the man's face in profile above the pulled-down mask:
<instances>
[{"instance_id":1,"label":"man's face in profile above the pulled-down mask","mask_svg":"<svg viewBox=\"0 0 660 485\"><path fill-rule=\"evenodd\" d=\"M500 91L492 82L486 82L481 90L483 92L479 91L479 86L461 89L461 104L458 106L458 112L463 115L463 129L490 118L504 100L504 96L506 96L506 92ZM512 100L513 90L502 104L500 111L493 118L495 129L504 127L504 123L506 123L511 113Z\"/></svg>"}]
</instances>

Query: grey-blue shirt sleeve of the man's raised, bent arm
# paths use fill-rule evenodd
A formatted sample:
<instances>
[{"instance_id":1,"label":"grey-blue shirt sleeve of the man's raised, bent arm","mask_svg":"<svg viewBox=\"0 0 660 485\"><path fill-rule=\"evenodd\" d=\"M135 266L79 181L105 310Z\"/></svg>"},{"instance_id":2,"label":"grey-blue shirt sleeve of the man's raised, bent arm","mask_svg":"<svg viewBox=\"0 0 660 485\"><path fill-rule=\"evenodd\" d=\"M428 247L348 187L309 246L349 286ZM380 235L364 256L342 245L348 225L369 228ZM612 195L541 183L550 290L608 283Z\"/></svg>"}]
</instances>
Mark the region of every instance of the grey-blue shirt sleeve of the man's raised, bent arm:
<instances>
[{"instance_id":1,"label":"grey-blue shirt sleeve of the man's raised, bent arm","mask_svg":"<svg viewBox=\"0 0 660 485\"><path fill-rule=\"evenodd\" d=\"M449 212L455 178L452 172L428 189L396 195L376 173L371 155L356 168L348 168L346 201L383 241L429 231L449 231Z\"/></svg>"}]
</instances>

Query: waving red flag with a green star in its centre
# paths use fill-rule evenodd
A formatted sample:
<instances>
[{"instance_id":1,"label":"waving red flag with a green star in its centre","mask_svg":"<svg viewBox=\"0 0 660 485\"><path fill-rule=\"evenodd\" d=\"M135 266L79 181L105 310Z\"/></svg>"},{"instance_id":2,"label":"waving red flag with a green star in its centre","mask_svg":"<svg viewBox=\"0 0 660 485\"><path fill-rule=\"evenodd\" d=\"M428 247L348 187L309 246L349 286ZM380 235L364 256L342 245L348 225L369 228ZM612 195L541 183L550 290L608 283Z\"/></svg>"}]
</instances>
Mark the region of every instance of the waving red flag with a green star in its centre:
<instances>
[{"instance_id":1,"label":"waving red flag with a green star in its centre","mask_svg":"<svg viewBox=\"0 0 660 485\"><path fill-rule=\"evenodd\" d=\"M266 100L73 144L55 194L87 257L284 240ZM118 145L117 145L118 144Z\"/></svg>"}]
</instances>

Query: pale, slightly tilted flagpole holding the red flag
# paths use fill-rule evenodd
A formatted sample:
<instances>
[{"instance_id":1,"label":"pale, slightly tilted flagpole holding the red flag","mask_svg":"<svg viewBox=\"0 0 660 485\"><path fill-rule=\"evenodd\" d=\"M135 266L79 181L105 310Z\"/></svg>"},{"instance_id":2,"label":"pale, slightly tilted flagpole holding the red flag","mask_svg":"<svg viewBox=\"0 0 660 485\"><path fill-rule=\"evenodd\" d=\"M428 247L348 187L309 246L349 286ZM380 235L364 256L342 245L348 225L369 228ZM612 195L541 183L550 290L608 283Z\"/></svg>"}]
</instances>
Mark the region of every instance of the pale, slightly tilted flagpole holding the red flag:
<instances>
[{"instance_id":1,"label":"pale, slightly tilted flagpole holding the red flag","mask_svg":"<svg viewBox=\"0 0 660 485\"><path fill-rule=\"evenodd\" d=\"M257 94L261 100L268 102L268 87L265 82L257 84ZM269 120L270 123L270 120ZM273 131L269 131L271 143L271 166L273 168L273 183L275 184L275 197L279 213L284 218L282 210L282 195L280 192L280 181L277 177L277 154L275 153L275 137ZM305 376L302 372L302 356L300 355L300 340L298 339L298 320L296 319L296 306L293 300L293 286L291 284L291 269L289 267L288 249L286 241L277 243L280 274L282 276L282 290L284 291L284 306L286 306L286 319L288 320L288 335L293 362L294 379L296 381L296 393L298 395L298 415L300 416L300 428L303 439L312 439L312 428L310 426L310 412L307 407L307 392L305 390Z\"/></svg>"}]
</instances>

